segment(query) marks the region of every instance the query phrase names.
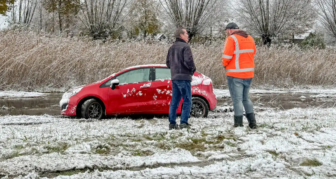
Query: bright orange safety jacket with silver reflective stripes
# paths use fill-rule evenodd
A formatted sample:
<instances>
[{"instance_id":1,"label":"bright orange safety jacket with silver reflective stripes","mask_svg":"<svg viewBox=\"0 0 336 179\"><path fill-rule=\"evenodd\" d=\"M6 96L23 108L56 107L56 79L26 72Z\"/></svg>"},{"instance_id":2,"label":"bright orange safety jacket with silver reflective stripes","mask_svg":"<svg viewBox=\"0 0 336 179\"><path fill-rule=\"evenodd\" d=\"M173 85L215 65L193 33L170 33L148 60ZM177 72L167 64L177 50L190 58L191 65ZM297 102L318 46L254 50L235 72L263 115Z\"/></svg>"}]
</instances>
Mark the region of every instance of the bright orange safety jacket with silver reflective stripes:
<instances>
[{"instance_id":1,"label":"bright orange safety jacket with silver reflective stripes","mask_svg":"<svg viewBox=\"0 0 336 179\"><path fill-rule=\"evenodd\" d=\"M251 36L234 34L226 38L223 50L223 66L226 75L236 78L254 77L254 55L256 47Z\"/></svg>"}]
</instances>

